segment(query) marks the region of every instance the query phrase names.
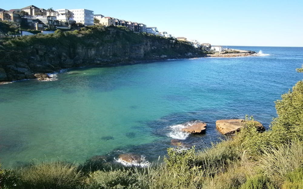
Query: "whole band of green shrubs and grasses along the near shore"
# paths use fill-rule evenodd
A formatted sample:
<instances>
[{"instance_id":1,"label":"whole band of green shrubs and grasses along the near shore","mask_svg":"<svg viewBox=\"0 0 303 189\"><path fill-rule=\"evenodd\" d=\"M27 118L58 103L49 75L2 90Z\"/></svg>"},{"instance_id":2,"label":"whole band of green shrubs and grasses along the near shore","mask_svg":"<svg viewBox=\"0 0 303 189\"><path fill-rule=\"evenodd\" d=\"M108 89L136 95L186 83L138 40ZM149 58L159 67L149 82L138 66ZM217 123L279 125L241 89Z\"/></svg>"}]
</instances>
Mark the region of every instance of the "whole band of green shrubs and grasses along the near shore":
<instances>
[{"instance_id":1,"label":"whole band of green shrubs and grasses along the near shore","mask_svg":"<svg viewBox=\"0 0 303 189\"><path fill-rule=\"evenodd\" d=\"M302 189L303 81L275 103L278 117L268 131L260 132L247 120L232 139L211 148L168 148L161 165L126 169L98 160L78 168L38 163L0 170L0 188Z\"/></svg>"}]
</instances>

